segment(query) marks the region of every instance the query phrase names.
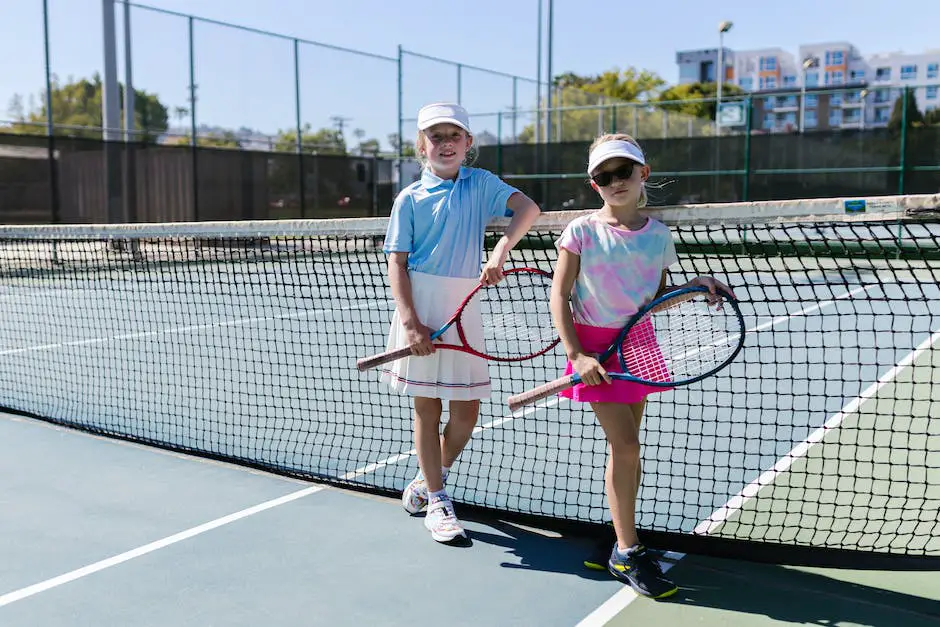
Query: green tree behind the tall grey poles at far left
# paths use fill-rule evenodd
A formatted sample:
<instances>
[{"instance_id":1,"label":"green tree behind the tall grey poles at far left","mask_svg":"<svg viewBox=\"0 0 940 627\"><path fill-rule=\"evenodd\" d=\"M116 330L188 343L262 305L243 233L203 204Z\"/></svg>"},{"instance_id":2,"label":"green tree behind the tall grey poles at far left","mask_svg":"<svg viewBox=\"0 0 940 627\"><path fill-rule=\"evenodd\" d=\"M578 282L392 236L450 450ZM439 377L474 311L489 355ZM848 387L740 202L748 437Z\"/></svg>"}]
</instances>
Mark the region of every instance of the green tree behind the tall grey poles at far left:
<instances>
[{"instance_id":1,"label":"green tree behind the tall grey poles at far left","mask_svg":"<svg viewBox=\"0 0 940 627\"><path fill-rule=\"evenodd\" d=\"M60 127L63 135L72 137L90 137L101 139L101 128L104 121L101 111L103 84L101 76L95 74L91 80L70 80L60 84L56 76L52 77L52 122ZM119 89L119 107L124 107L124 88ZM11 107L18 104L22 109L22 97L14 96ZM46 123L46 95L39 98L42 103L35 106L30 96L30 107L25 115L20 115L12 125L12 132L29 135L45 134ZM137 139L140 141L154 141L161 133L166 131L168 121L167 108L156 95L140 89L134 89L134 123ZM120 128L124 128L124 117L121 116Z\"/></svg>"}]
</instances>

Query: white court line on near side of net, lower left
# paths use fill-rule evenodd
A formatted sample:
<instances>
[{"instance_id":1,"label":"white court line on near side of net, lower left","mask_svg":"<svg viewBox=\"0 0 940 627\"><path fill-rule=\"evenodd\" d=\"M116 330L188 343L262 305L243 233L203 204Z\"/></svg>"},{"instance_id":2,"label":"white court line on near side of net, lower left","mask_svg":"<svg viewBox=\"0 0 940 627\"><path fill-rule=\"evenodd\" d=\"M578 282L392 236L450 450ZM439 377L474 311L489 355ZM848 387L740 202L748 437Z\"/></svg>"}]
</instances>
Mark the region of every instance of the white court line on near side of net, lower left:
<instances>
[{"instance_id":1,"label":"white court line on near side of net, lower left","mask_svg":"<svg viewBox=\"0 0 940 627\"><path fill-rule=\"evenodd\" d=\"M109 557L107 559L103 559L101 561L95 562L94 564L89 564L88 566L77 568L73 571L59 575L58 577L53 577L52 579L47 579L37 584L33 584L25 588L20 588L19 590L15 590L13 592L8 592L7 594L0 596L0 607L3 607L4 605L9 605L11 603L16 603L17 601L22 601L23 599L31 597L35 594L39 594L40 592L45 592L46 590L51 590L52 588L56 588L63 584L69 583L71 581L75 581L76 579L87 577L88 575L97 573L106 568L117 566L118 564L122 564L134 558L141 557L143 555L147 555L148 553L152 553L159 549L166 548L170 546L171 544L182 542L183 540L187 540L194 536L198 536L199 534L205 533L207 531L211 531L223 525L227 525L237 520L241 520L242 518L247 518L248 516L253 516L254 514L271 509L272 507L277 507L279 505L284 505L285 503L289 503L291 501L296 501L299 498L309 496L310 494L314 494L324 489L326 489L325 486L313 486L310 488L304 488L303 490L298 490L297 492L291 492L290 494L286 494L282 497L272 499L270 501L265 501L264 503L259 503L258 505L254 505L252 507L243 509L241 511L235 512L234 514L229 514L228 516L223 516L222 518L216 518L215 520L211 520L197 527L192 527L185 531L175 533L172 536L167 536L163 538L162 540L157 540L155 542L151 542L150 544L145 544L136 549L132 549L130 551L120 553L113 557Z\"/></svg>"}]
</instances>

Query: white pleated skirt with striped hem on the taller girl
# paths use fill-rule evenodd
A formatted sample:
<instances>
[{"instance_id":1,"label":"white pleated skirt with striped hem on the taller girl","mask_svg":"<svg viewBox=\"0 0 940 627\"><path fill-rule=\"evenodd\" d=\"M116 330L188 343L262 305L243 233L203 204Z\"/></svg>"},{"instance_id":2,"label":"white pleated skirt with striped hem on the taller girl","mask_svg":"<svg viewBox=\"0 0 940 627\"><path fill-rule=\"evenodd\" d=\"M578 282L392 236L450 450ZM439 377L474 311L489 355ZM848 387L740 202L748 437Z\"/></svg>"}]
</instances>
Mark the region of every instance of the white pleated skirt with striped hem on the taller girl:
<instances>
[{"instance_id":1,"label":"white pleated skirt with striped hem on the taller girl","mask_svg":"<svg viewBox=\"0 0 940 627\"><path fill-rule=\"evenodd\" d=\"M443 277L410 272L411 295L415 310L423 324L432 332L440 328L479 283L477 279ZM462 317L464 332L471 344L482 346L483 322L477 301L471 302ZM448 329L436 343L460 345L456 325ZM398 310L392 314L388 333L388 350L408 345L407 333ZM406 357L381 370L381 381L401 394L469 401L490 396L490 376L486 360L450 349L439 349L424 357Z\"/></svg>"}]
</instances>

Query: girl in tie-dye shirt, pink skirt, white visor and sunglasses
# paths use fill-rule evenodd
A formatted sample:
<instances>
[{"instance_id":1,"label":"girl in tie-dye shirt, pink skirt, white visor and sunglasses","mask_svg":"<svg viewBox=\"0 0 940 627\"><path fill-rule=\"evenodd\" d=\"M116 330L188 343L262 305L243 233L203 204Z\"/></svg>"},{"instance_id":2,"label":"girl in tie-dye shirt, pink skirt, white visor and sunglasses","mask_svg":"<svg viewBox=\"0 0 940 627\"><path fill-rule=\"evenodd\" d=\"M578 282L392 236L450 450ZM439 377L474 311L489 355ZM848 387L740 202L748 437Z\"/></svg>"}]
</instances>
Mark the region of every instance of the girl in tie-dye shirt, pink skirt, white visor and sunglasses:
<instances>
[{"instance_id":1,"label":"girl in tie-dye shirt, pink skirt, white visor and sunglasses","mask_svg":"<svg viewBox=\"0 0 940 627\"><path fill-rule=\"evenodd\" d=\"M647 395L663 388L613 381L607 369L619 369L616 357L600 364L597 356L630 316L667 290L667 268L678 258L669 228L639 212L646 205L650 168L633 138L597 138L588 174L604 206L572 220L557 242L552 316L568 354L565 374L577 372L582 380L561 396L591 403L610 445L606 487L617 542L607 569L639 594L663 598L677 588L639 544L635 515L643 406ZM716 288L730 292L711 277L688 285L706 286L713 294Z\"/></svg>"}]
</instances>

